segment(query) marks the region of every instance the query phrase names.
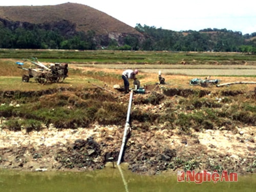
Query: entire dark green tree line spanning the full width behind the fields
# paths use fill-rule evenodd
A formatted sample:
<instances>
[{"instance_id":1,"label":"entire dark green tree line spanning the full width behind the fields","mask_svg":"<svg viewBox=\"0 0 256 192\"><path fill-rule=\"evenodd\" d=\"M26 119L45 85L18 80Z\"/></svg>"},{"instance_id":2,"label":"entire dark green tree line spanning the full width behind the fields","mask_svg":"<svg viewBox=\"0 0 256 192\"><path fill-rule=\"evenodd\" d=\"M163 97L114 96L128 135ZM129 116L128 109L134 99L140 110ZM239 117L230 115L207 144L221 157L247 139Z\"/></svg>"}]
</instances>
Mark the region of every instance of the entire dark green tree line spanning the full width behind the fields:
<instances>
[{"instance_id":1,"label":"entire dark green tree line spanning the full width behind the fields","mask_svg":"<svg viewBox=\"0 0 256 192\"><path fill-rule=\"evenodd\" d=\"M101 38L94 31L62 34L43 28L7 28L0 26L0 48L5 49L78 49L78 50L144 50L144 51L215 51L256 53L256 33L245 34L226 29L172 31L141 26L135 29L144 35L128 34L122 38Z\"/></svg>"}]
</instances>

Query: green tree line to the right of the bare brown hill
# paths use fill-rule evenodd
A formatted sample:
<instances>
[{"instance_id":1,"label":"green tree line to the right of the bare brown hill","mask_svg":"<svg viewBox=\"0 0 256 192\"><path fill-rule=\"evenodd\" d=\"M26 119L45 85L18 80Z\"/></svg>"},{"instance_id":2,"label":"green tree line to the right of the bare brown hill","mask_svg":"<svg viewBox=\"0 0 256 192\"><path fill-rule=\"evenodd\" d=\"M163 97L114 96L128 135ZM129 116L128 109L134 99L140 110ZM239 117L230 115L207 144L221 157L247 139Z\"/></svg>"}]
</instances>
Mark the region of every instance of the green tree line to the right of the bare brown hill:
<instances>
[{"instance_id":1,"label":"green tree line to the right of the bare brown hill","mask_svg":"<svg viewBox=\"0 0 256 192\"><path fill-rule=\"evenodd\" d=\"M137 24L137 31L143 33L146 40L143 50L168 51L216 51L216 52L256 52L256 33L242 35L226 29L204 29L200 31L172 31Z\"/></svg>"}]
</instances>

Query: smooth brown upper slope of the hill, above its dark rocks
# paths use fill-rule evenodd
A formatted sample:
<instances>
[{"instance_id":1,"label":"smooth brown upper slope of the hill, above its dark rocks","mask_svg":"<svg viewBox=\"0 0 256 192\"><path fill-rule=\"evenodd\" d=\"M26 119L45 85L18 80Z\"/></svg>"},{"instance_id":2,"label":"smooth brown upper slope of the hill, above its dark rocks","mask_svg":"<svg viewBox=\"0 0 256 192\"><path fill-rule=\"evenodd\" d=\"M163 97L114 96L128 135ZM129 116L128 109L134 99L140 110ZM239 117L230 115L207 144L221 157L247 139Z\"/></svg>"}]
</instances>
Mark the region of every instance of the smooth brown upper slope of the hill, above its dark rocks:
<instances>
[{"instance_id":1,"label":"smooth brown upper slope of the hill, above its dark rocks","mask_svg":"<svg viewBox=\"0 0 256 192\"><path fill-rule=\"evenodd\" d=\"M10 22L19 22L19 25L20 23L40 25L68 21L76 31L93 30L97 35L126 33L142 36L134 28L114 17L76 3L54 6L2 6L0 7L0 19L5 25Z\"/></svg>"}]
</instances>

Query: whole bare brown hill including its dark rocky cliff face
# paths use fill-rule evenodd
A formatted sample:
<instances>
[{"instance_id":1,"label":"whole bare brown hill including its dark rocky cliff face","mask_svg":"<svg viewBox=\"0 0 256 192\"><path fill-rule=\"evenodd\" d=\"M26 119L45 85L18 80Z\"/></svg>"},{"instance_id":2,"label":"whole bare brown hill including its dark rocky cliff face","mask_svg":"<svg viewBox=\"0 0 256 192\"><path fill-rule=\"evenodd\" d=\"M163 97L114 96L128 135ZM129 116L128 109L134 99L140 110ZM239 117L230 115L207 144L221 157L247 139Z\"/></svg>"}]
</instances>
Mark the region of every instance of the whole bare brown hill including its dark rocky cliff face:
<instances>
[{"instance_id":1,"label":"whole bare brown hill including its dark rocky cliff face","mask_svg":"<svg viewBox=\"0 0 256 192\"><path fill-rule=\"evenodd\" d=\"M62 35L70 36L75 32L94 31L96 40L115 39L122 44L126 35L143 39L143 35L134 28L120 22L112 16L86 5L66 3L55 6L9 6L0 7L0 23L5 27L46 30L58 30Z\"/></svg>"}]
</instances>

